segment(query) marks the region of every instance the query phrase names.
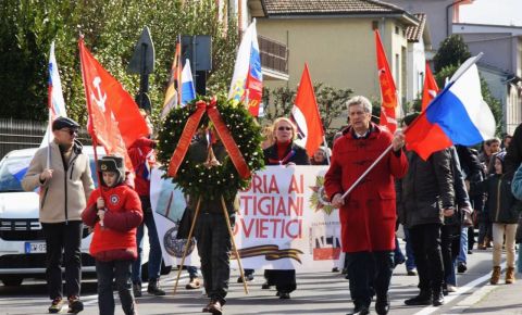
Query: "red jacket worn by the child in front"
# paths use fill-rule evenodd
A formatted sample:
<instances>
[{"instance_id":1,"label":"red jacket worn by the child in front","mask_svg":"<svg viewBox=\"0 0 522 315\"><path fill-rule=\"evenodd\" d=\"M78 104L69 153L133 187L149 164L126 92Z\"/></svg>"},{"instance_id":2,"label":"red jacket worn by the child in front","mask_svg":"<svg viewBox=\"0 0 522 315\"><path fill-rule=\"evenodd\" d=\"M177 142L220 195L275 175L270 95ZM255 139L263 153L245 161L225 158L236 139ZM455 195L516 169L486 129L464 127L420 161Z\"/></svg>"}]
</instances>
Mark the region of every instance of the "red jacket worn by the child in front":
<instances>
[{"instance_id":1,"label":"red jacket worn by the child in front","mask_svg":"<svg viewBox=\"0 0 522 315\"><path fill-rule=\"evenodd\" d=\"M113 188L103 187L105 215L103 227L97 215L96 201L100 197L100 188L92 191L82 219L94 227L90 254L99 261L135 260L137 257L136 228L141 224L144 214L139 197L130 187L119 185Z\"/></svg>"}]
</instances>

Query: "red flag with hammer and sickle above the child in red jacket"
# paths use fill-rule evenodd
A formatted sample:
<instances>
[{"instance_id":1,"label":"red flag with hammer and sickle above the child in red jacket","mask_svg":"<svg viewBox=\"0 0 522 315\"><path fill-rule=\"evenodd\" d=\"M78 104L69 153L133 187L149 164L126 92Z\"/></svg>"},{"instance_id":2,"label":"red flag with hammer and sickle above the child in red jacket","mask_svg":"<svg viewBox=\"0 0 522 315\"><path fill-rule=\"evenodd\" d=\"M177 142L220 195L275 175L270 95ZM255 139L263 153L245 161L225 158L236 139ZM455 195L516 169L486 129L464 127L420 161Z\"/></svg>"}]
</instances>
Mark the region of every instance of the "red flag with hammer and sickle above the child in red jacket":
<instances>
[{"instance_id":1,"label":"red flag with hammer and sickle above the child in red jacket","mask_svg":"<svg viewBox=\"0 0 522 315\"><path fill-rule=\"evenodd\" d=\"M78 45L89 113L88 131L107 153L125 156L125 167L130 171L133 166L126 148L136 139L148 136L147 124L133 98L85 48L83 39Z\"/></svg>"}]
</instances>

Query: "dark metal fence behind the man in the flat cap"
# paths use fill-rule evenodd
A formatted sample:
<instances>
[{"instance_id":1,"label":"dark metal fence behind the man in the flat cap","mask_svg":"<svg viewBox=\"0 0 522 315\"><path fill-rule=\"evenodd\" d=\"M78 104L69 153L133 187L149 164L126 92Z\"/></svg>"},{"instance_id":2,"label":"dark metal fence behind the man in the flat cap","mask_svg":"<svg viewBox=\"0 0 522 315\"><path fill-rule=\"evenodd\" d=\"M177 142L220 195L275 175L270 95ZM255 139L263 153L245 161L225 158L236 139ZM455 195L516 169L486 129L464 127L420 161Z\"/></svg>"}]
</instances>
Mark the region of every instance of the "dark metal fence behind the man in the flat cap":
<instances>
[{"instance_id":1,"label":"dark metal fence behind the man in the flat cap","mask_svg":"<svg viewBox=\"0 0 522 315\"><path fill-rule=\"evenodd\" d=\"M46 134L47 123L0 118L0 156L12 150L37 148ZM78 139L90 144L91 139L83 128Z\"/></svg>"}]
</instances>

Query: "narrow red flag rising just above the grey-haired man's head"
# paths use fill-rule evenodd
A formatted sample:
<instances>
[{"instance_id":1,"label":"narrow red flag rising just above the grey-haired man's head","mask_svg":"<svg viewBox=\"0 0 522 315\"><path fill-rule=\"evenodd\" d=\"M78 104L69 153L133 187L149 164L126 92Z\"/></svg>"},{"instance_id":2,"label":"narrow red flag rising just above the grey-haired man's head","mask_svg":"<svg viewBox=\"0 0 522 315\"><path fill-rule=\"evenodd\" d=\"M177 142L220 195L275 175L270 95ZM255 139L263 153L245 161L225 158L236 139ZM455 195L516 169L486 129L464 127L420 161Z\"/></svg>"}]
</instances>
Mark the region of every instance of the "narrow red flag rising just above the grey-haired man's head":
<instances>
[{"instance_id":1,"label":"narrow red flag rising just above the grey-haired man's head","mask_svg":"<svg viewBox=\"0 0 522 315\"><path fill-rule=\"evenodd\" d=\"M378 30L375 29L375 47L377 49L377 71L378 81L381 83L381 96L383 104L381 108L381 125L387 126L394 133L397 129L397 121L395 118L395 110L397 109L397 89L395 87L394 77L389 71L388 60L384 52L383 42Z\"/></svg>"}]
</instances>

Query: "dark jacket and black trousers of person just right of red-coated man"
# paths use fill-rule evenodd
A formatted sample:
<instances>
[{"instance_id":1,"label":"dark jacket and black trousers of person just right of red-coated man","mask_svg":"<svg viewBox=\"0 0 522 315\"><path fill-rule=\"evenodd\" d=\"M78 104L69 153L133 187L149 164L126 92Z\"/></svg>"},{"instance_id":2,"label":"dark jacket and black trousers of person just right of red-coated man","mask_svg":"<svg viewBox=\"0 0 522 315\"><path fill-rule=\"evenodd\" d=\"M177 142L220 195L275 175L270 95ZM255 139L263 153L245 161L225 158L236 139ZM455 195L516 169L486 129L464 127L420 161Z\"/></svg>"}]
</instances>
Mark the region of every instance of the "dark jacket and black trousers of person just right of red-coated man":
<instances>
[{"instance_id":1,"label":"dark jacket and black trousers of person just right of red-coated man","mask_svg":"<svg viewBox=\"0 0 522 315\"><path fill-rule=\"evenodd\" d=\"M410 240L419 274L419 295L407 305L438 306L444 303L444 266L440 251L440 226L445 216L455 213L451 155L448 149L423 161L415 152L407 153L409 169L402 179L403 224Z\"/></svg>"}]
</instances>

